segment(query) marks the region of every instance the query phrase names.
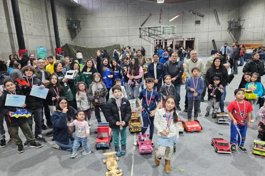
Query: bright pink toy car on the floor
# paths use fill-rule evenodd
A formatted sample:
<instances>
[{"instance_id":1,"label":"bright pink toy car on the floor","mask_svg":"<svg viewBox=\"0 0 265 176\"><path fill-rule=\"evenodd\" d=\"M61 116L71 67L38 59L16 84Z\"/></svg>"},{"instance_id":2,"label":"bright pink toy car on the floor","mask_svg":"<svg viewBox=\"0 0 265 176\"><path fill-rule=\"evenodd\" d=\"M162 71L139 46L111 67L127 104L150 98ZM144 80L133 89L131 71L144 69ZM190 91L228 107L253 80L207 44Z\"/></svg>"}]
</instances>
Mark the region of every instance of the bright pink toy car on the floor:
<instances>
[{"instance_id":1,"label":"bright pink toy car on the floor","mask_svg":"<svg viewBox=\"0 0 265 176\"><path fill-rule=\"evenodd\" d=\"M149 134L142 135L142 133L140 133L138 135L138 145L140 154L153 153L153 147L151 140L149 140Z\"/></svg>"}]
</instances>

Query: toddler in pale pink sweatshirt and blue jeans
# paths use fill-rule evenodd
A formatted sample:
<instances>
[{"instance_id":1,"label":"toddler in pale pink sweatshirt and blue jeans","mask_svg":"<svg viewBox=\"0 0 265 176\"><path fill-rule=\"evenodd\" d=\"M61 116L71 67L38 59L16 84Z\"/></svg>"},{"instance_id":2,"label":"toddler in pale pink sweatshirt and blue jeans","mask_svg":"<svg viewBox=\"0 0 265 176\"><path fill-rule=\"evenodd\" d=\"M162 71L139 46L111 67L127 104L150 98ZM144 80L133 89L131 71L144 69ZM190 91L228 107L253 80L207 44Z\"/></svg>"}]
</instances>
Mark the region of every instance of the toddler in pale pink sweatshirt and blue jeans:
<instances>
[{"instance_id":1,"label":"toddler in pale pink sweatshirt and blue jeans","mask_svg":"<svg viewBox=\"0 0 265 176\"><path fill-rule=\"evenodd\" d=\"M73 144L73 153L71 155L71 158L76 157L77 155L77 150L80 146L80 144L82 144L83 148L85 149L82 152L82 155L87 155L90 154L91 151L89 149L89 146L87 144L88 140L89 140L89 126L87 121L84 120L85 118L85 114L84 111L79 110L76 112L76 119L72 122L67 124L67 126L75 126L76 131L75 131L75 138L74 138L74 144Z\"/></svg>"}]
</instances>

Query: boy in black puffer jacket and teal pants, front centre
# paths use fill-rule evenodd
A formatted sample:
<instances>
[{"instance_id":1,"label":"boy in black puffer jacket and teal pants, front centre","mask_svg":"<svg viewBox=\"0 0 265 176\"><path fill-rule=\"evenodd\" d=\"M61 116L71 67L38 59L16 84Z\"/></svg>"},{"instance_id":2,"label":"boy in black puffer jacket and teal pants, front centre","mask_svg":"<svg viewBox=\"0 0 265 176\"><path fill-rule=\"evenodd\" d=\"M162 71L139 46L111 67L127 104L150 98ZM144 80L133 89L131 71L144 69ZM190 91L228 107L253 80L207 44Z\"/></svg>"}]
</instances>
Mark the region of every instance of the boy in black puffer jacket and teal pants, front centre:
<instances>
[{"instance_id":1,"label":"boy in black puffer jacket and teal pants, front centre","mask_svg":"<svg viewBox=\"0 0 265 176\"><path fill-rule=\"evenodd\" d=\"M125 90L124 90L125 91ZM127 98L121 97L122 88L120 85L114 85L112 87L112 97L106 103L106 120L109 122L109 126L113 133L113 143L115 147L116 156L126 154L126 127L129 124L129 120L132 115L130 102ZM122 150L119 150L119 133L121 134Z\"/></svg>"}]
</instances>

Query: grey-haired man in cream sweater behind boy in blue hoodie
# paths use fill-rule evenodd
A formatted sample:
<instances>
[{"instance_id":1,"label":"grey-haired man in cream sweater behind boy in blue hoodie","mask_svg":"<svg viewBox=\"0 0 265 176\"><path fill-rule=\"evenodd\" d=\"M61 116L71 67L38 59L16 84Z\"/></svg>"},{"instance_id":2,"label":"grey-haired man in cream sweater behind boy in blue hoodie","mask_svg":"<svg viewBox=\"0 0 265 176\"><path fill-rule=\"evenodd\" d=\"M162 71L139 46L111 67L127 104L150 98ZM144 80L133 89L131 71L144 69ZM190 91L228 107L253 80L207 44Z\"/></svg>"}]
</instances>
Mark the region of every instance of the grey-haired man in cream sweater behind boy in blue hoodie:
<instances>
[{"instance_id":1,"label":"grey-haired man in cream sweater behind boy in blue hoodie","mask_svg":"<svg viewBox=\"0 0 265 176\"><path fill-rule=\"evenodd\" d=\"M191 77L191 69L194 68L194 67L197 67L199 69L199 71L200 71L199 72L199 76L202 76L203 75L203 71L204 71L203 61L202 61L202 59L197 58L197 51L196 50L191 50L190 55L191 55L191 58L186 60L185 69L184 69L184 73L187 76L187 79L189 77ZM187 91L186 91L186 97L185 98L188 98L187 97ZM186 106L186 104L185 104L185 106ZM185 107L184 111L185 112L188 111L188 107L187 106ZM199 109L199 112L201 112L201 109Z\"/></svg>"}]
</instances>

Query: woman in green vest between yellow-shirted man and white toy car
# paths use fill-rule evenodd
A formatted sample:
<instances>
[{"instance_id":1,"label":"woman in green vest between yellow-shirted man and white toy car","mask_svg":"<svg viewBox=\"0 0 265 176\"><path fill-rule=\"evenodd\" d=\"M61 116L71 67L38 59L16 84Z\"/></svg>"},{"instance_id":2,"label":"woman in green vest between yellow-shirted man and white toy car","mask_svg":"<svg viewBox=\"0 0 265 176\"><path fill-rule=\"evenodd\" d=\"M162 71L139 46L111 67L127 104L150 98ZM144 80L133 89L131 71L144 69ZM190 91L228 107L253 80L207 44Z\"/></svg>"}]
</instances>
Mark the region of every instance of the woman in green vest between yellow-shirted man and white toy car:
<instances>
[{"instance_id":1,"label":"woman in green vest between yellow-shirted man and white toy car","mask_svg":"<svg viewBox=\"0 0 265 176\"><path fill-rule=\"evenodd\" d=\"M59 63L55 63L53 66L54 69L54 73L52 75L57 75L60 84L63 86L64 92L65 92L65 97L67 98L70 106L74 107L74 98L73 98L73 94L71 92L71 89L69 87L68 78L64 78L65 74L63 73L63 66L62 64ZM51 75L51 76L52 76Z\"/></svg>"}]
</instances>

